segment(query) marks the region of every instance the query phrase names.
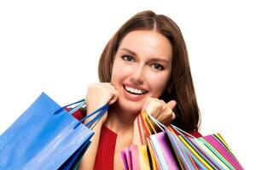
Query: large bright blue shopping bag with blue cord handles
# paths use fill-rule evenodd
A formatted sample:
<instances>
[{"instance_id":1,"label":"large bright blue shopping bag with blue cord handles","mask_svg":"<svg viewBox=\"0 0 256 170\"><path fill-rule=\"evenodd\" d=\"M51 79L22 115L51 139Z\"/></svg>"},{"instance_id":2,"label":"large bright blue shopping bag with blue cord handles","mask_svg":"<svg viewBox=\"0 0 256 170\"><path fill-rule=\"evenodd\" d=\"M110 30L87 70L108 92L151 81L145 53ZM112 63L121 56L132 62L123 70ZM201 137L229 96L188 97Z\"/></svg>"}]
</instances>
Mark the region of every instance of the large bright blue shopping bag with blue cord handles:
<instances>
[{"instance_id":1,"label":"large bright blue shopping bag with blue cord handles","mask_svg":"<svg viewBox=\"0 0 256 170\"><path fill-rule=\"evenodd\" d=\"M79 101L79 102L82 102ZM77 107L73 108L78 109ZM0 136L0 169L69 169L88 148L94 134L89 127L108 110L104 105L78 121L64 107L42 93Z\"/></svg>"}]
</instances>

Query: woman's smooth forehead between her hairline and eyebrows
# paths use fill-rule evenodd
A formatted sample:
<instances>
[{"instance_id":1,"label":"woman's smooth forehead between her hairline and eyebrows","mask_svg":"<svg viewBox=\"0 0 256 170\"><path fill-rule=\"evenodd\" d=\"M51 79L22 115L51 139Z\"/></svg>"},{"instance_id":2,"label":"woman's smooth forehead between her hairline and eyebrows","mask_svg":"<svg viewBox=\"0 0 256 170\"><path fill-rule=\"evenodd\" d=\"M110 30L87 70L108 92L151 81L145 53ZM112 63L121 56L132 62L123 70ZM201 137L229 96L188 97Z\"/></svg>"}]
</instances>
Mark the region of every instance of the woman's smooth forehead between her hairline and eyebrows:
<instances>
[{"instance_id":1,"label":"woman's smooth forehead between her hairline and eyebrows","mask_svg":"<svg viewBox=\"0 0 256 170\"><path fill-rule=\"evenodd\" d=\"M119 50L121 48L128 48L139 56L172 58L171 43L157 31L131 31L121 41Z\"/></svg>"}]
</instances>

